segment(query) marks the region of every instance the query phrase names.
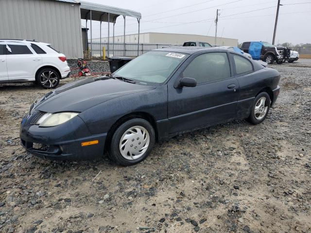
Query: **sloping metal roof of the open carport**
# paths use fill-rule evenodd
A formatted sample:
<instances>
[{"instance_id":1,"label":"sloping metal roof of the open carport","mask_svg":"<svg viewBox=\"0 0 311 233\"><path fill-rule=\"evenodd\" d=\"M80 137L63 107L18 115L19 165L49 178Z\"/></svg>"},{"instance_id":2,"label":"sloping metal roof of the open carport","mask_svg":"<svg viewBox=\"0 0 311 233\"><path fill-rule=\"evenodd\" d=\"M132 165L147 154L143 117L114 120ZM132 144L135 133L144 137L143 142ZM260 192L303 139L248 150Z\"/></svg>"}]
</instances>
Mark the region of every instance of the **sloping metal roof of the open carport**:
<instances>
[{"instance_id":1,"label":"sloping metal roof of the open carport","mask_svg":"<svg viewBox=\"0 0 311 233\"><path fill-rule=\"evenodd\" d=\"M122 8L113 7L113 6L105 6L102 4L97 4L93 2L87 2L87 1L80 1L80 3L81 3L80 8L84 10L92 10L92 11L97 11L101 13L110 13L116 16L129 16L129 17L141 18L141 14L139 12L132 11L132 10L122 9ZM98 20L98 19L95 19L95 20Z\"/></svg>"}]
</instances>

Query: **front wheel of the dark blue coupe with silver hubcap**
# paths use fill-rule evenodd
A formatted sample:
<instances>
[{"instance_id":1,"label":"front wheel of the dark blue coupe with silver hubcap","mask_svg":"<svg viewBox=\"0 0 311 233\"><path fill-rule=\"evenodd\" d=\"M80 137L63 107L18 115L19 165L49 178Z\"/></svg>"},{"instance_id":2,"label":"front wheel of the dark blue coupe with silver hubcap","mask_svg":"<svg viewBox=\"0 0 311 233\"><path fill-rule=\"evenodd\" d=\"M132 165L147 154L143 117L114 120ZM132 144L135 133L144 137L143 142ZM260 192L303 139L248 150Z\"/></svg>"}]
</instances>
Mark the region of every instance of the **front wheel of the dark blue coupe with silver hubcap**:
<instances>
[{"instance_id":1,"label":"front wheel of the dark blue coupe with silver hubcap","mask_svg":"<svg viewBox=\"0 0 311 233\"><path fill-rule=\"evenodd\" d=\"M111 138L108 155L122 166L143 161L155 145L155 130L144 119L134 118L122 123Z\"/></svg>"}]
</instances>

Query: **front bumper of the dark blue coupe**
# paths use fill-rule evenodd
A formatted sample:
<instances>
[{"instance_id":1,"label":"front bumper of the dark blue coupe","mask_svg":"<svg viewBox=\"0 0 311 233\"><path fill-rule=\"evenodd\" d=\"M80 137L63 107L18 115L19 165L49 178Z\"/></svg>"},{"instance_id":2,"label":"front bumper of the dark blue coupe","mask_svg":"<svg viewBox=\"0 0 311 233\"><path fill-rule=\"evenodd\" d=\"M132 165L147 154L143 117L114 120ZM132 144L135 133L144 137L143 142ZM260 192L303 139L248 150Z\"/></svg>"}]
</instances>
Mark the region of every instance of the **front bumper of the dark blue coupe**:
<instances>
[{"instance_id":1,"label":"front bumper of the dark blue coupe","mask_svg":"<svg viewBox=\"0 0 311 233\"><path fill-rule=\"evenodd\" d=\"M31 154L52 160L94 159L104 154L107 134L92 135L79 116L46 128L32 125L30 122L34 117L25 116L19 132L21 145ZM97 144L82 146L83 142L96 140Z\"/></svg>"}]
</instances>

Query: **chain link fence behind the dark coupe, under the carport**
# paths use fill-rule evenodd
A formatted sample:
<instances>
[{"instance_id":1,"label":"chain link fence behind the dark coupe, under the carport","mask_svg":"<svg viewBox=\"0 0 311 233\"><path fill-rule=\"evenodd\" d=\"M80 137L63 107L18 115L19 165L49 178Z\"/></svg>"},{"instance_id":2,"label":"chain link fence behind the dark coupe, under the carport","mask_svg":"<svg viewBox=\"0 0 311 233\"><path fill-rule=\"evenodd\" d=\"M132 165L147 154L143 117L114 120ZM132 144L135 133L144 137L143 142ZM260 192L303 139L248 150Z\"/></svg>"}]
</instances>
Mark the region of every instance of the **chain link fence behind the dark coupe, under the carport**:
<instances>
[{"instance_id":1,"label":"chain link fence behind the dark coupe, under the carport","mask_svg":"<svg viewBox=\"0 0 311 233\"><path fill-rule=\"evenodd\" d=\"M147 51L161 49L164 47L172 46L171 44L139 44L139 52L138 54L141 55ZM174 45L174 46L181 46L181 45ZM108 43L88 43L88 48L92 51L93 58L102 58L103 57L103 47L105 50L105 56L108 56ZM123 43L109 43L109 53L110 56L128 56L128 57L136 57L137 56L137 43L125 43L125 48Z\"/></svg>"}]
</instances>

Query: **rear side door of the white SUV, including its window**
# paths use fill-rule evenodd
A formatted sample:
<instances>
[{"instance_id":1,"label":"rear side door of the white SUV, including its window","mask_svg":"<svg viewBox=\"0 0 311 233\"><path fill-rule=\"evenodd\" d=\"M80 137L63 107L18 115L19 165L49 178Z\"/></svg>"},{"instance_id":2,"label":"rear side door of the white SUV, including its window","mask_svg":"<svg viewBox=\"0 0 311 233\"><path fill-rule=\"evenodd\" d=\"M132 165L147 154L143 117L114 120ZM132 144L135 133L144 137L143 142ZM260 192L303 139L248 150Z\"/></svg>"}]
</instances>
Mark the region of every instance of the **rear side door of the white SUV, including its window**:
<instances>
[{"instance_id":1,"label":"rear side door of the white SUV, including its window","mask_svg":"<svg viewBox=\"0 0 311 233\"><path fill-rule=\"evenodd\" d=\"M35 81L35 72L41 65L41 56L23 42L7 43L7 71L9 81Z\"/></svg>"}]
</instances>

